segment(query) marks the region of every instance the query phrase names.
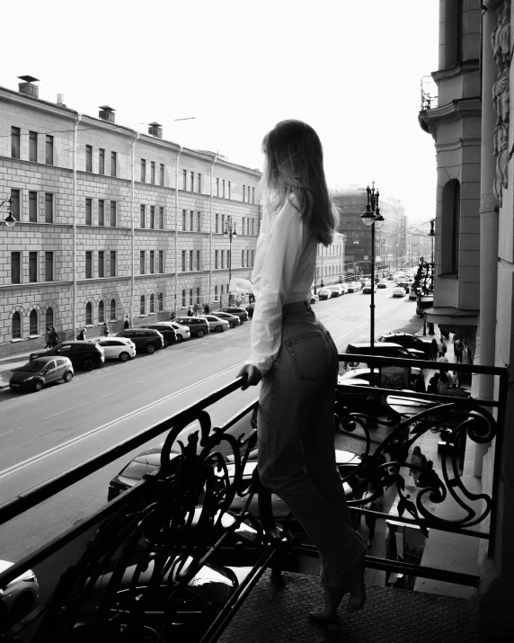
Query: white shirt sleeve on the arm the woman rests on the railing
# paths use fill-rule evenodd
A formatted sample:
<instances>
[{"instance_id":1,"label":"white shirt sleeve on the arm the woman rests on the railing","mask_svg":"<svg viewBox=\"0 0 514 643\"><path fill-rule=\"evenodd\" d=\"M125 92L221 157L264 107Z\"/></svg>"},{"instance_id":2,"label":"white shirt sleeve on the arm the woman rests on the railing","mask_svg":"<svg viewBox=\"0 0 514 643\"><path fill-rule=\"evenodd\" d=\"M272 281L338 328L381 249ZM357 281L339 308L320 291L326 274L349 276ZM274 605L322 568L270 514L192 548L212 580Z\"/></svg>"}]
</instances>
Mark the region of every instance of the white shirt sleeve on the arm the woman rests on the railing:
<instances>
[{"instance_id":1,"label":"white shirt sleeve on the arm the woman rests on the railing","mask_svg":"<svg viewBox=\"0 0 514 643\"><path fill-rule=\"evenodd\" d=\"M251 355L247 364L261 374L270 371L282 340L282 307L288 299L291 282L304 246L304 226L300 214L288 201L279 211L270 246L263 259L259 293L253 310Z\"/></svg>"}]
</instances>

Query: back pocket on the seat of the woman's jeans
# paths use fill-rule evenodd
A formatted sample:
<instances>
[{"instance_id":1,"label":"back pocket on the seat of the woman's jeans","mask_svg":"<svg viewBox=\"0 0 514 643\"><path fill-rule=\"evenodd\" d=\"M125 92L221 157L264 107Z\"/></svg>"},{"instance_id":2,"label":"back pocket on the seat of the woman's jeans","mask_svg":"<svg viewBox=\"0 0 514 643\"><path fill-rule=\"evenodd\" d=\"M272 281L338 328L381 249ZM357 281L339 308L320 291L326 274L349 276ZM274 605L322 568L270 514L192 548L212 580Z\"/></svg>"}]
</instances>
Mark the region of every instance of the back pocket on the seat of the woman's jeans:
<instances>
[{"instance_id":1,"label":"back pocket on the seat of the woman's jeans","mask_svg":"<svg viewBox=\"0 0 514 643\"><path fill-rule=\"evenodd\" d=\"M307 335L291 337L284 341L297 380L318 381L326 377L329 368L329 353L323 333L315 331Z\"/></svg>"}]
</instances>

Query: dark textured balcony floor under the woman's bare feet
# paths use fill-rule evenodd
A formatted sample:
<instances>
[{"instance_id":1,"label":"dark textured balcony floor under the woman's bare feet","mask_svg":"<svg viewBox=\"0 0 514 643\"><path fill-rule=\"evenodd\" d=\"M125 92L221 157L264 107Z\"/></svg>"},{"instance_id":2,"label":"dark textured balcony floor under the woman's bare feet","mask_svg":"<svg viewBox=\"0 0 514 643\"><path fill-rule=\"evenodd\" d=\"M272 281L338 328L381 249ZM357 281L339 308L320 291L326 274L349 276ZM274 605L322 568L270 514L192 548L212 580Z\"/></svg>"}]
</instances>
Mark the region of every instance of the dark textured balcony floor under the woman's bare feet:
<instances>
[{"instance_id":1,"label":"dark textured balcony floor under the woman's bare feet","mask_svg":"<svg viewBox=\"0 0 514 643\"><path fill-rule=\"evenodd\" d=\"M461 599L367 585L359 612L345 611L336 624L310 621L307 612L323 603L315 576L284 573L276 587L268 570L253 588L219 643L478 643L474 599Z\"/></svg>"}]
</instances>

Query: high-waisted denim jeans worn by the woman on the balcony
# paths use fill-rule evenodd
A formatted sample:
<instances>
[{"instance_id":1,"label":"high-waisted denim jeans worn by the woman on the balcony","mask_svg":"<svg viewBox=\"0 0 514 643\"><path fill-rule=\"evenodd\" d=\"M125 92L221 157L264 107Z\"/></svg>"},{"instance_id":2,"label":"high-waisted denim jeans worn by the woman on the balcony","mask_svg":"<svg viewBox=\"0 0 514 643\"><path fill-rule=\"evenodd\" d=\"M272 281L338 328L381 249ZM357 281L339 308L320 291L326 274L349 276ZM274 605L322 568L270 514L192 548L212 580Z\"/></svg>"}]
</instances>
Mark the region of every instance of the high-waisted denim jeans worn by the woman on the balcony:
<instances>
[{"instance_id":1,"label":"high-waisted denim jeans worn by the woman on the balcony","mask_svg":"<svg viewBox=\"0 0 514 643\"><path fill-rule=\"evenodd\" d=\"M282 310L282 344L261 381L259 474L284 500L322 561L322 581L359 564L366 551L354 531L335 464L334 404L339 370L332 337L306 302Z\"/></svg>"}]
</instances>

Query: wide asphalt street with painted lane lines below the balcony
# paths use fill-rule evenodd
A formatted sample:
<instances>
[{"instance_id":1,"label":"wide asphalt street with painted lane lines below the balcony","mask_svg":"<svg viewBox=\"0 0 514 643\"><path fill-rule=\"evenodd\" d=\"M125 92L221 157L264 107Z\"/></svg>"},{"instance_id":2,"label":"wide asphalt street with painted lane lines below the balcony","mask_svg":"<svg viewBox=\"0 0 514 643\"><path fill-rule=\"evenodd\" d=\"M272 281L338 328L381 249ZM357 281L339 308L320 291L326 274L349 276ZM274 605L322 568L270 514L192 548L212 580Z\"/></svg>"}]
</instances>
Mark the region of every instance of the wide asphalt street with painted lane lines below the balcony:
<instances>
[{"instance_id":1,"label":"wide asphalt street with painted lane lines below the balcony","mask_svg":"<svg viewBox=\"0 0 514 643\"><path fill-rule=\"evenodd\" d=\"M404 326L415 302L377 290L377 336ZM367 341L369 296L359 293L315 304L340 351L350 341ZM223 334L175 344L131 362L106 362L77 373L70 384L38 394L0 392L0 504L139 433L234 380L248 356L251 323ZM210 407L213 425L222 424L258 396L258 388L236 391ZM191 425L182 438L195 430ZM148 446L164 441L155 439ZM133 453L136 455L137 449ZM77 520L100 508L109 480L132 455L111 463L58 496L0 527L0 558L16 560ZM22 538L20 534L22 533Z\"/></svg>"}]
</instances>

